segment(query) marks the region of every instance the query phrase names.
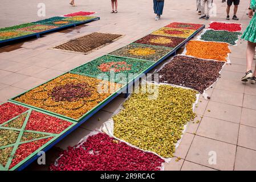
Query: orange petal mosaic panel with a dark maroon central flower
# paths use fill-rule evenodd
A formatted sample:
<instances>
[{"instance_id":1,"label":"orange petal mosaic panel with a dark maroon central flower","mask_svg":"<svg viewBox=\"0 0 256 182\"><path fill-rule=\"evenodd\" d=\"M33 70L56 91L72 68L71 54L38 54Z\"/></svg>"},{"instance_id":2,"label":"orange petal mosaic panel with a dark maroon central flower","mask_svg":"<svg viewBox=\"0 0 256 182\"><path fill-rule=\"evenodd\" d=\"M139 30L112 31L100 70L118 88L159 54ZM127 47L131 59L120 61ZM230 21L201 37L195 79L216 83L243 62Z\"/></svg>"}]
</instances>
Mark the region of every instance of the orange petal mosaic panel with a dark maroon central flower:
<instances>
[{"instance_id":1,"label":"orange petal mosaic panel with a dark maroon central flower","mask_svg":"<svg viewBox=\"0 0 256 182\"><path fill-rule=\"evenodd\" d=\"M66 73L14 100L77 121L121 86L123 85L114 82ZM99 93L99 88L107 90Z\"/></svg>"}]
</instances>

